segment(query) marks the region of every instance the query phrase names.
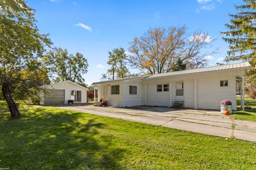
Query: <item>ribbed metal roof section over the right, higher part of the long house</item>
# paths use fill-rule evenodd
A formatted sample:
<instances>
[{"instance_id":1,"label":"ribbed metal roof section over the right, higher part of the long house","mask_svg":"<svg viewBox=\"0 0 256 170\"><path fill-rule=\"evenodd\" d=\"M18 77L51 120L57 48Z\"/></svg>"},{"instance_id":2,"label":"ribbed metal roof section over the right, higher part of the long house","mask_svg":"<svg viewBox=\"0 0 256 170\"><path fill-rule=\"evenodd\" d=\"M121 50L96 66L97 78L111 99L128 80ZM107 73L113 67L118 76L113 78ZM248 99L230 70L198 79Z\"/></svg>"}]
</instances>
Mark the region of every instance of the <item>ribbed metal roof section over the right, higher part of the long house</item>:
<instances>
[{"instance_id":1,"label":"ribbed metal roof section over the right, higher part of the long house","mask_svg":"<svg viewBox=\"0 0 256 170\"><path fill-rule=\"evenodd\" d=\"M173 72L167 72L167 73L153 74L153 75L150 75L149 77L147 77L147 79L166 77L166 76L172 76L172 75L203 73L203 72L231 70L231 69L249 69L250 67L251 67L251 65L249 62L234 63L234 64L202 67L202 68L198 68L198 69L188 69L188 70L182 70L182 71L173 71Z\"/></svg>"}]
</instances>

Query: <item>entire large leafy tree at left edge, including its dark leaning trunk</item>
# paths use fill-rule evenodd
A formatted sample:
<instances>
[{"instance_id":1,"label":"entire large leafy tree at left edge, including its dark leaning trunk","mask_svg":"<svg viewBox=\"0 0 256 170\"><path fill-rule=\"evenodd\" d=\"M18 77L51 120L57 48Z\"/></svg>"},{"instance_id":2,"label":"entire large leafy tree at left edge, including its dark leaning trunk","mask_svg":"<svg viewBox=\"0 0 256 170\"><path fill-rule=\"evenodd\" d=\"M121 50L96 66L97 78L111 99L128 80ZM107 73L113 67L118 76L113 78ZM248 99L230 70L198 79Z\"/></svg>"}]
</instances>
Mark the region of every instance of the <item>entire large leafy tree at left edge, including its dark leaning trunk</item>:
<instances>
[{"instance_id":1,"label":"entire large leafy tree at left edge, including its dark leaning trunk","mask_svg":"<svg viewBox=\"0 0 256 170\"><path fill-rule=\"evenodd\" d=\"M23 0L0 1L0 87L12 117L20 115L14 98L33 95L49 80L41 57L51 41L35 23L34 10Z\"/></svg>"}]
</instances>

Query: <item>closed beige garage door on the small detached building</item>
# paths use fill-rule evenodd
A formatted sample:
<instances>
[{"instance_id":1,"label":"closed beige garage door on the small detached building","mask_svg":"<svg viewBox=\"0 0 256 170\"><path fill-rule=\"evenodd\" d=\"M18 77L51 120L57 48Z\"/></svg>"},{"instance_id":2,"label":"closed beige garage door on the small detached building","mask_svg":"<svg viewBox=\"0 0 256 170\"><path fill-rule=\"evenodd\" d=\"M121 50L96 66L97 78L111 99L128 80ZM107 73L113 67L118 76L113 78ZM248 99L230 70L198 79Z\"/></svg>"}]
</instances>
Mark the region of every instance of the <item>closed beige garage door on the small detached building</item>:
<instances>
[{"instance_id":1,"label":"closed beige garage door on the small detached building","mask_svg":"<svg viewBox=\"0 0 256 170\"><path fill-rule=\"evenodd\" d=\"M64 104L65 90L47 89L44 94L45 105Z\"/></svg>"}]
</instances>

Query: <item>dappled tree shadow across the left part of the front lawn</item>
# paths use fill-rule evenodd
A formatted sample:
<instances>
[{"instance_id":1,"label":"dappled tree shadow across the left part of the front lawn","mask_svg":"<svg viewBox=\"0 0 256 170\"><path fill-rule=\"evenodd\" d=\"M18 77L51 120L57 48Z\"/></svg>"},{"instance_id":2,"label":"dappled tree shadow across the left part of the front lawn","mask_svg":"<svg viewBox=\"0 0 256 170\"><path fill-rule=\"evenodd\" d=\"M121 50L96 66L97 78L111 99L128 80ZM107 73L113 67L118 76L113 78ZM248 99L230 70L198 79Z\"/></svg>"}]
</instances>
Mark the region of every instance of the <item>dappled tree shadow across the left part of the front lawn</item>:
<instances>
[{"instance_id":1,"label":"dappled tree shadow across the left part of the front lawn","mask_svg":"<svg viewBox=\"0 0 256 170\"><path fill-rule=\"evenodd\" d=\"M54 111L54 110L53 110ZM97 116L34 109L0 121L0 167L10 169L122 169L122 148L101 133Z\"/></svg>"}]
</instances>

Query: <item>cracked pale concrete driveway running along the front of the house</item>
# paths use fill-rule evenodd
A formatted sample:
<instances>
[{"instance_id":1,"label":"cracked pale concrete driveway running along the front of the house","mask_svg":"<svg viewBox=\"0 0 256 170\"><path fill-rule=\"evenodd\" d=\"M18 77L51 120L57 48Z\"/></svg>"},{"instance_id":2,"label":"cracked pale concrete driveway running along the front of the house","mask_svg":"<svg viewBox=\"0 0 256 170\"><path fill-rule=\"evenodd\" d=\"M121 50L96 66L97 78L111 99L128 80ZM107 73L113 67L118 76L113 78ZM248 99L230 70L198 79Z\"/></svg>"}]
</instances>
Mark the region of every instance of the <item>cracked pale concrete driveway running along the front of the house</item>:
<instances>
[{"instance_id":1,"label":"cracked pale concrete driveway running along the front of the house","mask_svg":"<svg viewBox=\"0 0 256 170\"><path fill-rule=\"evenodd\" d=\"M256 141L256 122L232 120L230 116L224 116L218 111L143 106L129 108L93 105L58 107L219 137Z\"/></svg>"}]
</instances>

